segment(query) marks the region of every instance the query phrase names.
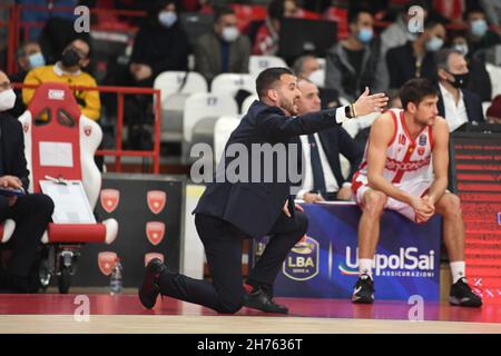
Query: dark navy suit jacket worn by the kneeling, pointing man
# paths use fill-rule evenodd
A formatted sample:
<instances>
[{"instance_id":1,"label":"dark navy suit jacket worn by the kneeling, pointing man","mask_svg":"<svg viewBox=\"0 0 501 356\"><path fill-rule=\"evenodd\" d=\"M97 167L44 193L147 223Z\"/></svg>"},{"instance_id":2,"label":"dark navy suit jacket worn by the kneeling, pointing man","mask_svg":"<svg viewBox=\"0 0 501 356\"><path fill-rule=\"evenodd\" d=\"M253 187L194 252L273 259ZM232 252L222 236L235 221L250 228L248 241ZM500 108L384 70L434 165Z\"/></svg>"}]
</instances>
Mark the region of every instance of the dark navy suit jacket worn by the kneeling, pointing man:
<instances>
[{"instance_id":1,"label":"dark navy suit jacket worn by the kneeling, pointing man","mask_svg":"<svg viewBox=\"0 0 501 356\"><path fill-rule=\"evenodd\" d=\"M333 128L338 125L335 117L336 109L328 109L287 118L279 108L269 107L256 100L235 131L232 132L225 151L229 145L240 144L247 148L250 162L253 144L301 145L297 136ZM301 156L298 158L301 159ZM224 167L223 165L222 167L226 171L232 159L226 158L222 161L224 161ZM291 194L289 177L283 182L276 179L281 164L283 161L274 160L273 167L266 167L267 170L273 169L272 182L265 182L263 179L259 182L250 182L250 179L249 182L230 182L225 179L223 182L208 184L194 214L209 215L226 220L250 237L268 234ZM246 167L249 175L257 169L252 166L253 164L249 164ZM264 168L262 162L262 174Z\"/></svg>"}]
</instances>

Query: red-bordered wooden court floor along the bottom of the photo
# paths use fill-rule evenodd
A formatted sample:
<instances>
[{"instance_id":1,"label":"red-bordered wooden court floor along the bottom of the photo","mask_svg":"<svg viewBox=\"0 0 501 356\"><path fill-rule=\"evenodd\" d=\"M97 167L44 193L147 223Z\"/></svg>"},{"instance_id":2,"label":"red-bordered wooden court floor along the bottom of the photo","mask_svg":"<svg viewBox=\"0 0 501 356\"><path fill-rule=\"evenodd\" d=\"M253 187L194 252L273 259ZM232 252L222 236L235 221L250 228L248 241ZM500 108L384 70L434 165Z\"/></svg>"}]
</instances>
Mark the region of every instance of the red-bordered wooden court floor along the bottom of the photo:
<instances>
[{"instance_id":1,"label":"red-bordered wooden court floor along the bottom of the photo","mask_svg":"<svg viewBox=\"0 0 501 356\"><path fill-rule=\"evenodd\" d=\"M88 300L89 318L81 316ZM495 333L501 334L501 305L480 309L425 303L422 322L410 322L413 305L376 300L354 305L341 299L276 298L287 316L243 308L236 315L158 299L143 308L134 294L0 295L0 333L175 333L175 334L324 334L324 333ZM77 317L75 316L77 314ZM82 320L84 319L84 320Z\"/></svg>"}]
</instances>

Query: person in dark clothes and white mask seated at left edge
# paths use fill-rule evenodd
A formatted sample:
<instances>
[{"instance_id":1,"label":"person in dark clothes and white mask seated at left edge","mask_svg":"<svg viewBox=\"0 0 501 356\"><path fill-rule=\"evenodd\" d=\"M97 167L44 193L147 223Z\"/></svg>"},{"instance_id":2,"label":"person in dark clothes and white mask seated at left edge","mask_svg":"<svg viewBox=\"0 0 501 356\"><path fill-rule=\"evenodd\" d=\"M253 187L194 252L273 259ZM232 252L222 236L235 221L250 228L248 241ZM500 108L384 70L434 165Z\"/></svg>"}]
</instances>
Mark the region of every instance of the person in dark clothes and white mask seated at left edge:
<instances>
[{"instance_id":1,"label":"person in dark clothes and white mask seated at left edge","mask_svg":"<svg viewBox=\"0 0 501 356\"><path fill-rule=\"evenodd\" d=\"M0 187L28 190L29 171L24 158L21 123L8 115L16 101L9 78L0 71ZM9 293L35 291L29 274L37 258L43 231L53 210L52 200L42 194L8 197L0 194L0 221L13 219L14 233L8 245L12 256L0 276L0 289Z\"/></svg>"}]
</instances>

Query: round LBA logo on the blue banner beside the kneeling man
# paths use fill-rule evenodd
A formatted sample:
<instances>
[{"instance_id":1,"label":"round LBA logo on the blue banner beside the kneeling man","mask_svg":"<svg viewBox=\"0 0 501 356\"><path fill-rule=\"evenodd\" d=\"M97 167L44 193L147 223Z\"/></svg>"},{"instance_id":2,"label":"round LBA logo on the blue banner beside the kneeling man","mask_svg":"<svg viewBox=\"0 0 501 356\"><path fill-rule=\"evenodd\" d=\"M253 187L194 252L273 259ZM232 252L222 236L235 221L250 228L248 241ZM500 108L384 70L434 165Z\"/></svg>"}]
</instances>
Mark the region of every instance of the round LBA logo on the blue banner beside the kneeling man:
<instances>
[{"instance_id":1,"label":"round LBA logo on the blue banner beside the kneeling man","mask_svg":"<svg viewBox=\"0 0 501 356\"><path fill-rule=\"evenodd\" d=\"M294 280L308 280L318 275L320 244L310 236L304 236L287 256L283 273Z\"/></svg>"}]
</instances>

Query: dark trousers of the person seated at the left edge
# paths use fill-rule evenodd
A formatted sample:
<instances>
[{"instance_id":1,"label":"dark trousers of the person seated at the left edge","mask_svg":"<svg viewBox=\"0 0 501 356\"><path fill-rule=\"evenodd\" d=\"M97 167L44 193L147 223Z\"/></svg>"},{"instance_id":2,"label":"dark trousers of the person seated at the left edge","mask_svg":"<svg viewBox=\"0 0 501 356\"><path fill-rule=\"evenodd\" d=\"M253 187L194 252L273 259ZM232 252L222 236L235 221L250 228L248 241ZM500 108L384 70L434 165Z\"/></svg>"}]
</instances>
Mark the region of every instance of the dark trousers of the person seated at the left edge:
<instances>
[{"instance_id":1,"label":"dark trousers of the person seated at the left edge","mask_svg":"<svg viewBox=\"0 0 501 356\"><path fill-rule=\"evenodd\" d=\"M9 207L6 197L0 196L0 221L16 221L16 229L8 243L12 249L7 265L10 275L28 278L52 211L52 199L43 194L20 196L12 207Z\"/></svg>"}]
</instances>

